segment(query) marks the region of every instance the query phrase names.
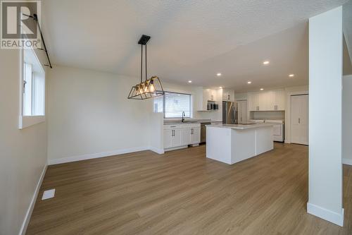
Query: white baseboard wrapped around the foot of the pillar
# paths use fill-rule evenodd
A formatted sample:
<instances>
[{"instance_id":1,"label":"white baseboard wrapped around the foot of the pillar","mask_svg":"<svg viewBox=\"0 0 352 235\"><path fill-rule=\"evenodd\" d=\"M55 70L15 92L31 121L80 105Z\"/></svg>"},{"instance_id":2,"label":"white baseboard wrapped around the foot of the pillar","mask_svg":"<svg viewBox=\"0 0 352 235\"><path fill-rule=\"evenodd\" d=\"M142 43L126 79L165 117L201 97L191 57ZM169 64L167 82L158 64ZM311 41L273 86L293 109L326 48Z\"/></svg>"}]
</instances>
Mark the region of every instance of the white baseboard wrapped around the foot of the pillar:
<instances>
[{"instance_id":1,"label":"white baseboard wrapped around the foot of the pillar","mask_svg":"<svg viewBox=\"0 0 352 235\"><path fill-rule=\"evenodd\" d=\"M307 212L341 227L344 226L344 208L342 208L341 213L337 213L318 205L307 203Z\"/></svg>"}]
</instances>

